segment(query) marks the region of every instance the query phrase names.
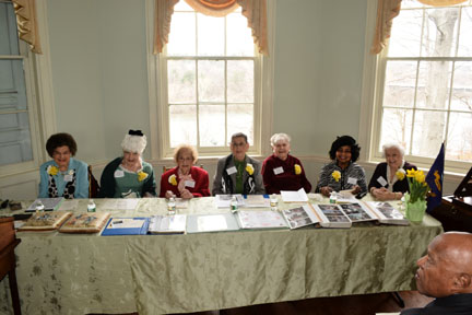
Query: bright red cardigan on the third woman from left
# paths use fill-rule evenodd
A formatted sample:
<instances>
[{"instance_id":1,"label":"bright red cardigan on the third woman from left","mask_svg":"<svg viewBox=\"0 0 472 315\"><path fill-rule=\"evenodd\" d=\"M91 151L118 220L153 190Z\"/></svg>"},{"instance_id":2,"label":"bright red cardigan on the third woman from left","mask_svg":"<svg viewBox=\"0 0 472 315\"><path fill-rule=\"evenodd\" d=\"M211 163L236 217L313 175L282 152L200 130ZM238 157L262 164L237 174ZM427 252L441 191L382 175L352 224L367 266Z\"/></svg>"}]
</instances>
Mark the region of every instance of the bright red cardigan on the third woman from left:
<instances>
[{"instance_id":1,"label":"bright red cardigan on the third woman from left","mask_svg":"<svg viewBox=\"0 0 472 315\"><path fill-rule=\"evenodd\" d=\"M178 177L178 167L174 167L167 172L165 172L161 176L161 194L160 197L165 197L165 192L167 190L170 190L176 195L177 197L180 197L180 192L177 189L177 186L174 186L169 183L168 178L175 175L177 179L177 184L179 182ZM192 179L196 182L194 187L186 187L193 197L204 197L210 196L210 189L209 189L209 176L208 172L203 168L192 166L190 168L190 175L192 176Z\"/></svg>"}]
</instances>

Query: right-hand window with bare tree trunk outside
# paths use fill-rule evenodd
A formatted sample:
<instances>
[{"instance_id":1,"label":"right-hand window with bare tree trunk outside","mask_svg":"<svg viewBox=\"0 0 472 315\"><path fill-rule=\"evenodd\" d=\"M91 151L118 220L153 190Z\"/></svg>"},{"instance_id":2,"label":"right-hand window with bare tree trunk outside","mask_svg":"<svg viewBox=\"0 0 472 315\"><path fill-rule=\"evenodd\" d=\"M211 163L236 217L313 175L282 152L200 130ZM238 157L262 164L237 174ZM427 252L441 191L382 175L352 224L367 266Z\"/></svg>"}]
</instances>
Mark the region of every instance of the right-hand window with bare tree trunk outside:
<instances>
[{"instance_id":1,"label":"right-hand window with bare tree trunk outside","mask_svg":"<svg viewBox=\"0 0 472 315\"><path fill-rule=\"evenodd\" d=\"M430 165L445 141L457 168L472 161L472 5L433 8L403 0L377 57L371 155L386 142ZM469 166L468 166L469 165Z\"/></svg>"}]
</instances>

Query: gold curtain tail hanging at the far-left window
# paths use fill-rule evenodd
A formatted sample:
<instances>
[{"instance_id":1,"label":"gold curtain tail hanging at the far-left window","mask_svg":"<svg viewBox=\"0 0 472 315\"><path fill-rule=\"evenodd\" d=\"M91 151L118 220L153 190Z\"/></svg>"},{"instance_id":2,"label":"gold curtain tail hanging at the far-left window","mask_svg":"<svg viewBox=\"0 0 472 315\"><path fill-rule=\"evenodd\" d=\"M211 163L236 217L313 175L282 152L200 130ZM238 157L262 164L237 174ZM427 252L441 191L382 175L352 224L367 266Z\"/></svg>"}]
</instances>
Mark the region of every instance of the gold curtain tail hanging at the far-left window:
<instances>
[{"instance_id":1,"label":"gold curtain tail hanging at the far-left window","mask_svg":"<svg viewBox=\"0 0 472 315\"><path fill-rule=\"evenodd\" d=\"M37 27L36 1L12 0L20 39L30 44L33 52L43 54Z\"/></svg>"}]
</instances>

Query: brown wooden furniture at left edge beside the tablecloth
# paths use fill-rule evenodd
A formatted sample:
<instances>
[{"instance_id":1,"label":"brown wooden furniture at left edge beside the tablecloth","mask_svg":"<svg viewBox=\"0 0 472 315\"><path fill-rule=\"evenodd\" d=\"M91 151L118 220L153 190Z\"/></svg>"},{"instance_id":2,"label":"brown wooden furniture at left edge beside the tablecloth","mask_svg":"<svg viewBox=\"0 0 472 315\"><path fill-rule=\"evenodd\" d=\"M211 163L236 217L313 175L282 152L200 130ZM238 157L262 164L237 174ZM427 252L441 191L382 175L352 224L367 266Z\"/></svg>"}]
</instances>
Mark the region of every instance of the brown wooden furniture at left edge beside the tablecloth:
<instances>
[{"instance_id":1,"label":"brown wooden furniture at left edge beside the tablecloth","mask_svg":"<svg viewBox=\"0 0 472 315\"><path fill-rule=\"evenodd\" d=\"M15 236L13 218L0 218L0 280L9 275L10 292L14 314L21 314L20 295L16 284L14 248L21 240Z\"/></svg>"}]
</instances>

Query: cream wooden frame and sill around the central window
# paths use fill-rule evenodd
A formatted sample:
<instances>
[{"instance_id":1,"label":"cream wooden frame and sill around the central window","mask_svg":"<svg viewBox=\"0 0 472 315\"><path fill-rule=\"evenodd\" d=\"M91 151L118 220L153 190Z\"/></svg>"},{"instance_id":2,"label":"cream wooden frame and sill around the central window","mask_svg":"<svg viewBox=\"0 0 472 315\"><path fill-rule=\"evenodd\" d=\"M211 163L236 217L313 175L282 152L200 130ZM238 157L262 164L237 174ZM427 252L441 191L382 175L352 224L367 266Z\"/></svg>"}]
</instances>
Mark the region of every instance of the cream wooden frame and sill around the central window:
<instances>
[{"instance_id":1,"label":"cream wooden frame and sill around the central window","mask_svg":"<svg viewBox=\"0 0 472 315\"><path fill-rule=\"evenodd\" d=\"M180 0L184 1L184 0ZM173 149L168 135L168 104L167 104L167 68L163 54L153 55L154 1L146 0L146 33L148 33L148 82L150 102L150 133L151 158L153 160L168 160L173 156ZM255 113L253 113L253 143L249 143L248 155L266 156L270 154L270 147L263 145L263 139L269 139L272 132L272 100L273 100L273 30L275 3L268 1L268 47L269 56L255 56ZM166 47L164 47L166 49ZM157 122L156 122L157 121ZM213 159L227 155L229 147L216 150L200 148L199 158Z\"/></svg>"}]
</instances>

